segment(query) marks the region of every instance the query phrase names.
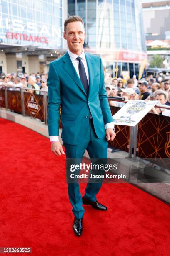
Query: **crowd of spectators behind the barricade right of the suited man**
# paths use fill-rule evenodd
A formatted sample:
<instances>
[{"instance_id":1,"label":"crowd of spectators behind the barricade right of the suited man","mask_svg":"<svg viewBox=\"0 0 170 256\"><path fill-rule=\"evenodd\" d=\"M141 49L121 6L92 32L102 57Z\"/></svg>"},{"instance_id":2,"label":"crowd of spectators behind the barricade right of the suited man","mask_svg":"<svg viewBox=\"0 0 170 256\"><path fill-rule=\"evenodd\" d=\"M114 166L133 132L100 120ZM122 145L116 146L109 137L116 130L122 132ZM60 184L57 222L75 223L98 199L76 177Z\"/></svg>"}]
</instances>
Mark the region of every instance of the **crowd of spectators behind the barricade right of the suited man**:
<instances>
[{"instance_id":1,"label":"crowd of spectators behind the barricade right of the suited man","mask_svg":"<svg viewBox=\"0 0 170 256\"><path fill-rule=\"evenodd\" d=\"M151 113L158 115L170 116L170 77L157 76L142 78L138 81L134 75L132 79L125 80L123 76L116 78L109 76L104 69L105 87L108 97L113 97L109 100L110 106L122 107L125 101L128 100L158 100L159 105L164 105L163 108L154 107Z\"/></svg>"}]
</instances>

